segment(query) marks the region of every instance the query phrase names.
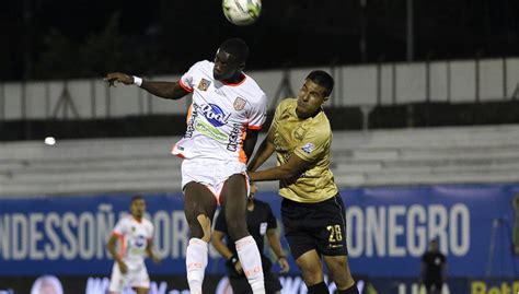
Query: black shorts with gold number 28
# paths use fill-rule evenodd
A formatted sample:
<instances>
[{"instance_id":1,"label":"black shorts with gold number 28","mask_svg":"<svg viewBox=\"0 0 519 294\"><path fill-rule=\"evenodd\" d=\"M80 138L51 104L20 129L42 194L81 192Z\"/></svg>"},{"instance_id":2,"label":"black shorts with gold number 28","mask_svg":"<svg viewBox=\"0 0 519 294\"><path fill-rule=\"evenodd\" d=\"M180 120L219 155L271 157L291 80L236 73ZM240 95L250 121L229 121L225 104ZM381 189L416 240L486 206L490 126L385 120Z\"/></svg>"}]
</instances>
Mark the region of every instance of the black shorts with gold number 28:
<instances>
[{"instance_id":1,"label":"black shorts with gold number 28","mask_svg":"<svg viewBox=\"0 0 519 294\"><path fill-rule=\"evenodd\" d=\"M345 216L339 195L318 203L284 198L281 220L293 259L312 249L325 256L347 256Z\"/></svg>"}]
</instances>

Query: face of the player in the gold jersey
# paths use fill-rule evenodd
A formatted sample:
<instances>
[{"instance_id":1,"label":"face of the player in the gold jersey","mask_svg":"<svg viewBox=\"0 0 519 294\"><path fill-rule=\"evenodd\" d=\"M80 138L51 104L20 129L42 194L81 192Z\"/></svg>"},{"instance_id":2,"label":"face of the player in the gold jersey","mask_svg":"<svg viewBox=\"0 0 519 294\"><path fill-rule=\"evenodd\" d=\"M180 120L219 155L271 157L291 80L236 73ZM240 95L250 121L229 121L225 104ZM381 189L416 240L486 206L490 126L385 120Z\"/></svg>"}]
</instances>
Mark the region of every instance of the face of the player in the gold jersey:
<instances>
[{"instance_id":1,"label":"face of the player in the gold jersey","mask_svg":"<svg viewBox=\"0 0 519 294\"><path fill-rule=\"evenodd\" d=\"M324 86L307 79L298 94L298 116L307 118L313 115L327 99L325 93L326 89Z\"/></svg>"}]
</instances>

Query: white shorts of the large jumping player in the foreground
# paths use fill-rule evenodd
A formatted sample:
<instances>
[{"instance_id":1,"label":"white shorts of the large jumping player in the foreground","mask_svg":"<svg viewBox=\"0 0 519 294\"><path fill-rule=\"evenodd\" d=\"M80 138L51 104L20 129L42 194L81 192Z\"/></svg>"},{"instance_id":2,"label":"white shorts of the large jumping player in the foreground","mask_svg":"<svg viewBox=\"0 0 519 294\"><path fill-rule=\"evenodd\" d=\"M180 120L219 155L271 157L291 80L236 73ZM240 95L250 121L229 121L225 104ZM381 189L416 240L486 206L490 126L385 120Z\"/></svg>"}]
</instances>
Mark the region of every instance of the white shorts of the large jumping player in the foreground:
<instances>
[{"instance_id":1,"label":"white shorts of the large jumping player in the foreground","mask_svg":"<svg viewBox=\"0 0 519 294\"><path fill-rule=\"evenodd\" d=\"M238 161L183 160L182 190L189 181L205 185L220 202L226 180L235 174L245 174L246 165ZM249 183L247 191L249 191Z\"/></svg>"}]
</instances>

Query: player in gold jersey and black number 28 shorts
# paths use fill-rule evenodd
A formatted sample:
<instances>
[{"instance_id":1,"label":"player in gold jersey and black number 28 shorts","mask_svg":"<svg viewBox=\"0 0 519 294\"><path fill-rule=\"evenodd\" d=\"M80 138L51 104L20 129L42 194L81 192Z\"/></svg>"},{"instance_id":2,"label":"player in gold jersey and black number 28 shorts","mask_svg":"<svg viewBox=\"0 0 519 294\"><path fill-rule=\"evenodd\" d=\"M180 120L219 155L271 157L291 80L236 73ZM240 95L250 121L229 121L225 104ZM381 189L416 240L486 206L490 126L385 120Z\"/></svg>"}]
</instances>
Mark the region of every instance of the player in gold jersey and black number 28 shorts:
<instances>
[{"instance_id":1,"label":"player in gold jersey and black number 28 shorts","mask_svg":"<svg viewBox=\"0 0 519 294\"><path fill-rule=\"evenodd\" d=\"M347 259L345 209L330 170L332 129L322 108L333 85L330 74L312 71L298 98L278 105L249 176L251 181L279 180L286 237L308 293L330 293L322 258L337 293L358 294ZM256 170L274 152L277 166Z\"/></svg>"}]
</instances>

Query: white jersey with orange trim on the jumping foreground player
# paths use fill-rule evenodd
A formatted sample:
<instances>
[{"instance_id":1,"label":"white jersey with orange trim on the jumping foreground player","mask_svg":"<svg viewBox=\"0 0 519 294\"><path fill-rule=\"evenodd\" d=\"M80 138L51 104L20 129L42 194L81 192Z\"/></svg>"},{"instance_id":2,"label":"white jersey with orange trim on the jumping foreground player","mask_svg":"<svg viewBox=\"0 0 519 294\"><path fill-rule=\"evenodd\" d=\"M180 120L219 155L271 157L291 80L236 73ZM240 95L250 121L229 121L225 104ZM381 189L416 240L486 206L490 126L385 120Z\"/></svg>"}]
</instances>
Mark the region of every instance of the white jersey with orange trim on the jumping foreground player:
<instances>
[{"instance_id":1,"label":"white jersey with orange trim on the jumping foreground player","mask_svg":"<svg viewBox=\"0 0 519 294\"><path fill-rule=\"evenodd\" d=\"M267 96L249 75L238 84L212 77L215 63L199 61L180 80L193 92L187 130L172 153L185 158L246 162L243 140L247 129L261 129L266 118Z\"/></svg>"}]
</instances>

